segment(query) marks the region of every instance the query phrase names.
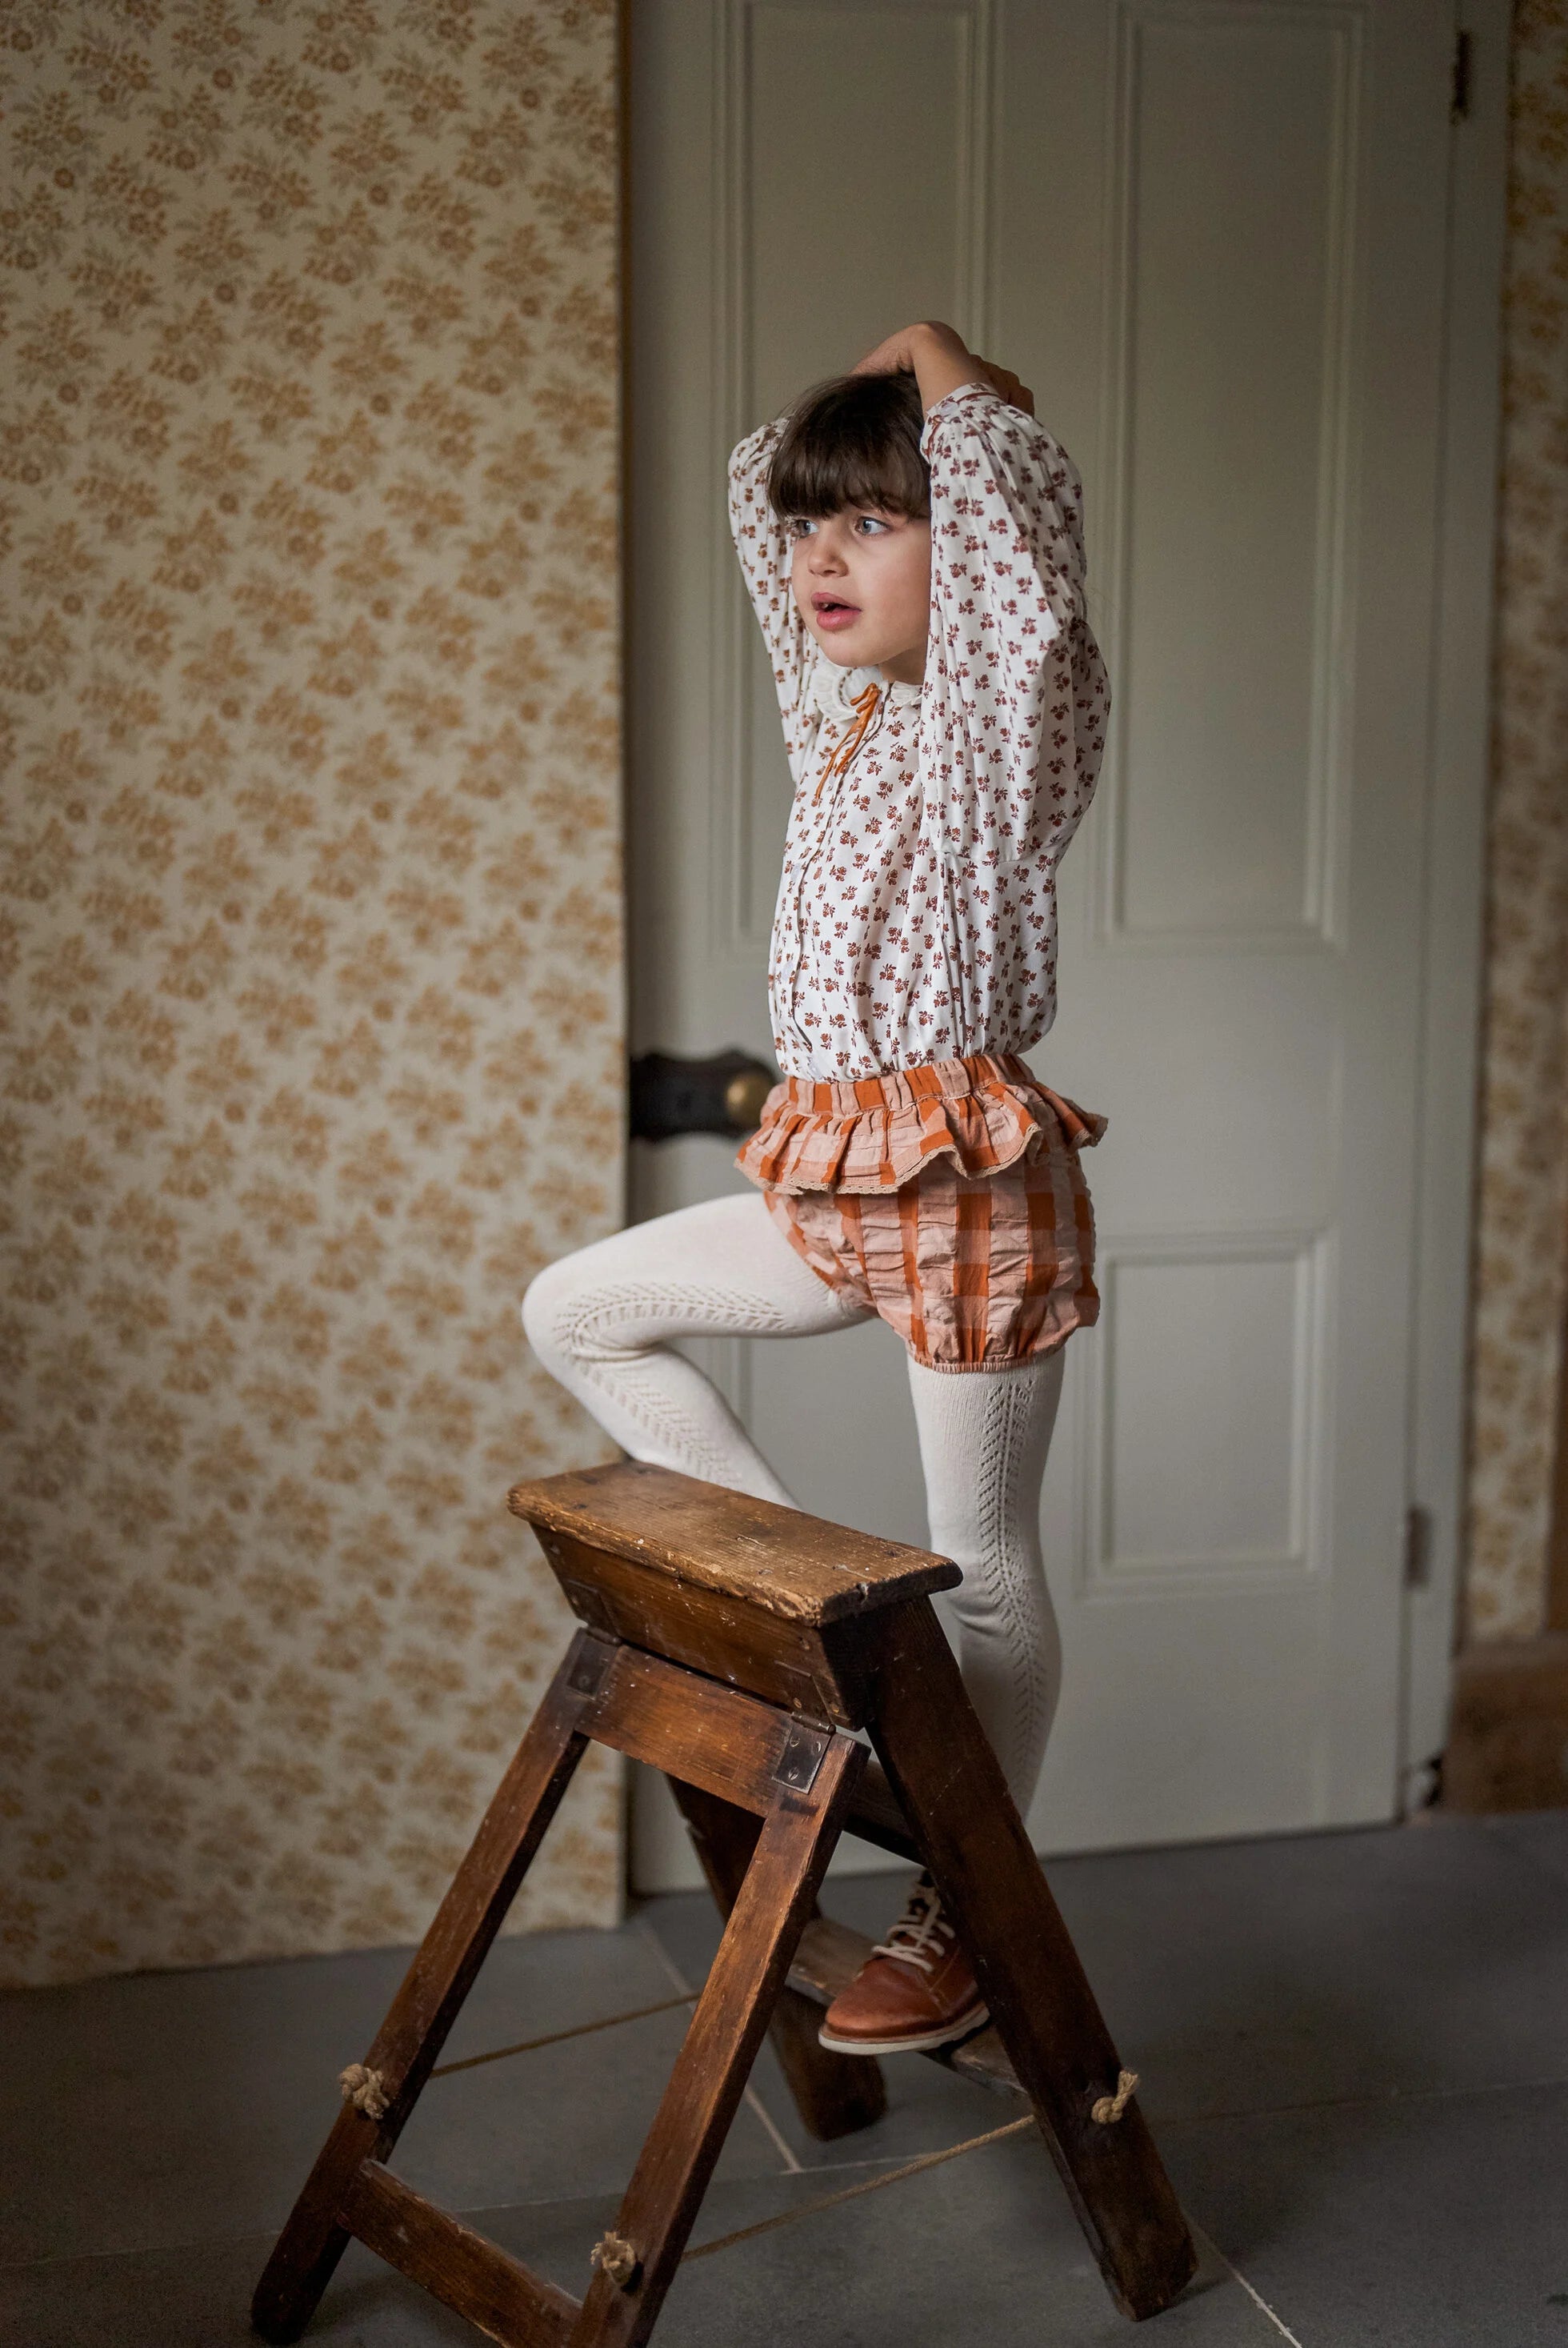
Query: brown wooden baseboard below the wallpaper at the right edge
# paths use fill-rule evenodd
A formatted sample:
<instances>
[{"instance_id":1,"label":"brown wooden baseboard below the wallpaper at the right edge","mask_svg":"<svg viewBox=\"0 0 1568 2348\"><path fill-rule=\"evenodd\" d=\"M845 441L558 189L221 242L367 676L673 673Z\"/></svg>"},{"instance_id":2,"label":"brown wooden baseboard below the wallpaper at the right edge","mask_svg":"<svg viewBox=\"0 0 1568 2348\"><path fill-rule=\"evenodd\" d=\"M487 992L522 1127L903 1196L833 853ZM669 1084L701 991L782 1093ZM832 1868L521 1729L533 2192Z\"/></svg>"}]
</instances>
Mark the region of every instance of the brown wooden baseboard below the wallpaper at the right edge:
<instances>
[{"instance_id":1,"label":"brown wooden baseboard below the wallpaper at the right edge","mask_svg":"<svg viewBox=\"0 0 1568 2348\"><path fill-rule=\"evenodd\" d=\"M1568 1808L1566 1632L1500 1639L1455 1658L1441 1808Z\"/></svg>"}]
</instances>

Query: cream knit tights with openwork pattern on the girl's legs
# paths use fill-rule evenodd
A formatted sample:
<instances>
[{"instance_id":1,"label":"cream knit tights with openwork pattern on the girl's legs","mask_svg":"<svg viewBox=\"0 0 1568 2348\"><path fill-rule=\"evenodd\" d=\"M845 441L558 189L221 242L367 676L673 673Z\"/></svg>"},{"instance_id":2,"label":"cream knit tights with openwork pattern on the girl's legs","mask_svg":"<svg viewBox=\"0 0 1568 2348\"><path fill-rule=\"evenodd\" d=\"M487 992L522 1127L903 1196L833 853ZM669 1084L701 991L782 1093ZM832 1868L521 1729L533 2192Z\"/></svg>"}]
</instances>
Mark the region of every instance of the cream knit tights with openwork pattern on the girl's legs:
<instances>
[{"instance_id":1,"label":"cream knit tights with openwork pattern on the girl's legs","mask_svg":"<svg viewBox=\"0 0 1568 2348\"><path fill-rule=\"evenodd\" d=\"M688 1336L822 1336L869 1315L836 1296L756 1195L634 1223L563 1256L528 1289L523 1327L545 1369L622 1451L796 1503L723 1395L671 1350ZM969 1700L1028 1810L1056 1709L1061 1644L1040 1559L1040 1477L1061 1352L1021 1369L908 1364L932 1547L962 1568L941 1599Z\"/></svg>"}]
</instances>

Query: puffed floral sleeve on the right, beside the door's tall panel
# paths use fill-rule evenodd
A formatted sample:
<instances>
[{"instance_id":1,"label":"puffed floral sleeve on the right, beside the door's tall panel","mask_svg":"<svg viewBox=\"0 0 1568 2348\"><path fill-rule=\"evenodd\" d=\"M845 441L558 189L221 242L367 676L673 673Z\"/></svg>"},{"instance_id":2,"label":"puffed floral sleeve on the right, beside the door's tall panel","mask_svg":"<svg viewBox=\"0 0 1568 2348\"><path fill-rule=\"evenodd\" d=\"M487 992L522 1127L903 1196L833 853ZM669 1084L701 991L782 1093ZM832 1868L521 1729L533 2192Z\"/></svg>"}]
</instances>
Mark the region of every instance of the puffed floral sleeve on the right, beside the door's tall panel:
<instances>
[{"instance_id":1,"label":"puffed floral sleeve on the right, beside the door's tall panel","mask_svg":"<svg viewBox=\"0 0 1568 2348\"><path fill-rule=\"evenodd\" d=\"M1052 434L967 383L925 418L932 639L920 770L948 857L1054 864L1094 796L1110 686L1084 618L1082 484Z\"/></svg>"}]
</instances>

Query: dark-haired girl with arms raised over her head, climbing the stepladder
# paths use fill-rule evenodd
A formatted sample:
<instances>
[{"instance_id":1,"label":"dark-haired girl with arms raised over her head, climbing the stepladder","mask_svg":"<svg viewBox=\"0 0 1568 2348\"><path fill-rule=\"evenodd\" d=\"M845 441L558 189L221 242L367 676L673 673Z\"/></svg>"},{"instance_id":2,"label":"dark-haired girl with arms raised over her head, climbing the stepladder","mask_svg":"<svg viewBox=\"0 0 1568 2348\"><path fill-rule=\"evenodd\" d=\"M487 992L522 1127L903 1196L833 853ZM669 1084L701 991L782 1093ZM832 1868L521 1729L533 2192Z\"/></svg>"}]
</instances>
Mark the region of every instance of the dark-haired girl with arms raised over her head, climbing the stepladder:
<instances>
[{"instance_id":1,"label":"dark-haired girl with arms raised over her head, climbing the stepladder","mask_svg":"<svg viewBox=\"0 0 1568 2348\"><path fill-rule=\"evenodd\" d=\"M930 1540L965 1573L965 1686L1026 1813L1059 1686L1040 1477L1061 1348L1099 1313L1077 1151L1103 1120L1019 1059L1056 1014L1054 876L1106 740L1082 491L1016 376L920 324L739 444L730 526L796 780L768 967L784 1082L737 1160L761 1195L584 1247L523 1322L634 1458L784 1505L669 1341L890 1322ZM984 2019L922 1876L822 2043Z\"/></svg>"}]
</instances>

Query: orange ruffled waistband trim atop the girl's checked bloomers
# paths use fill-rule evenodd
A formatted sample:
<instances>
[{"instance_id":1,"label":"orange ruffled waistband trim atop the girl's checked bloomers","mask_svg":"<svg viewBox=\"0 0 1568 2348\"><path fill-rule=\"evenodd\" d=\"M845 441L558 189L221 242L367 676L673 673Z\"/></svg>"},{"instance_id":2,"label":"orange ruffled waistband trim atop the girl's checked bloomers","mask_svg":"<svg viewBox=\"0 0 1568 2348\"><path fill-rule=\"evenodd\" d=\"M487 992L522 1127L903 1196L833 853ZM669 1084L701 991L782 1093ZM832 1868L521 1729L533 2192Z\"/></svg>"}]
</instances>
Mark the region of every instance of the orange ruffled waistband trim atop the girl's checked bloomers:
<instances>
[{"instance_id":1,"label":"orange ruffled waistband trim atop the girl's checked bloomers","mask_svg":"<svg viewBox=\"0 0 1568 2348\"><path fill-rule=\"evenodd\" d=\"M1080 1151L1106 1120L1052 1092L1014 1054L976 1052L897 1075L791 1075L735 1165L763 1190L899 1190L934 1158L998 1174L1042 1151Z\"/></svg>"}]
</instances>

